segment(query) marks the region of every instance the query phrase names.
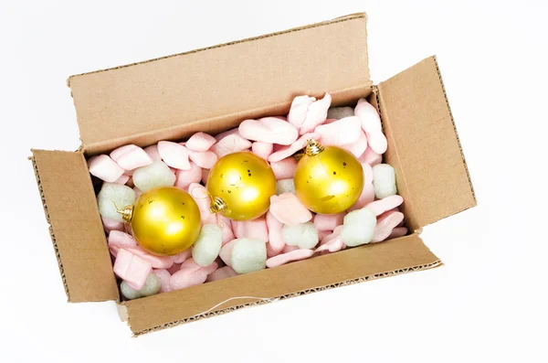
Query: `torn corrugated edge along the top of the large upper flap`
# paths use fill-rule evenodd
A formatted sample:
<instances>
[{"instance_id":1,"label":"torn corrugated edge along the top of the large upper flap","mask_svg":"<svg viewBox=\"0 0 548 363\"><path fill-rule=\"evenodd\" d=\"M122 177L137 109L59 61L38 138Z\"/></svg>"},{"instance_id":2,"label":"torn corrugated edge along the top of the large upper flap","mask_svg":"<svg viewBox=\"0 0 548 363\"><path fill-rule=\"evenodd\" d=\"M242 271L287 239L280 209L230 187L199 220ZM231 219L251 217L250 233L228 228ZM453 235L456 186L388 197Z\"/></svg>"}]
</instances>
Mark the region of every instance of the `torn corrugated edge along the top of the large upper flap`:
<instances>
[{"instance_id":1,"label":"torn corrugated edge along the top of the large upper flap","mask_svg":"<svg viewBox=\"0 0 548 363\"><path fill-rule=\"evenodd\" d=\"M365 14L365 13L354 13L354 14L350 14L350 15L347 15L347 16L335 17L332 20L325 20L325 21L321 21L321 22L318 22L318 23L309 24L309 25L303 26L303 27L293 27L293 28L290 28L290 29L281 30L281 31L278 31L278 32L270 33L270 34L265 34L265 35L258 36L258 37L248 37L248 38L244 38L244 39L240 39L240 40L234 40L234 41L227 42L227 43L217 44L217 45L211 46L211 47L189 50L189 51L186 51L186 52L172 54L172 55L164 56L164 57L158 57L158 58L155 58L155 59L142 60L142 61L139 61L139 62L125 64L125 65L118 66L118 67L111 67L111 68L107 68L107 69L99 69L99 70L94 70L94 71L90 71L90 72L83 72L83 73L79 73L79 74L74 74L74 75L68 77L67 85L68 85L68 87L70 87L70 79L72 77L78 77L78 76L82 76L82 75L85 75L85 74L99 73L99 72L104 72L104 71L112 70L112 69L121 69L121 68L131 67L131 66L135 66L135 65L138 65L138 64L152 62L154 60L168 59L168 58L172 58L172 57L184 56L186 54L198 53L198 52L202 52L202 51L209 50L209 49L214 49L214 48L227 47L227 46L231 46L231 45L238 44L238 43L243 43L243 42L247 42L247 41L262 39L262 38L265 38L265 37L276 37L276 36L279 36L279 35L282 35L282 34L287 34L287 33L300 31L300 30L304 30L304 29L310 29L312 27L322 27L322 26L327 26L327 25L334 24L334 23L341 23L343 21L358 19L358 18L362 18L362 17L364 17L365 22L367 22L367 14ZM369 69L369 66L368 66L368 69Z\"/></svg>"}]
</instances>

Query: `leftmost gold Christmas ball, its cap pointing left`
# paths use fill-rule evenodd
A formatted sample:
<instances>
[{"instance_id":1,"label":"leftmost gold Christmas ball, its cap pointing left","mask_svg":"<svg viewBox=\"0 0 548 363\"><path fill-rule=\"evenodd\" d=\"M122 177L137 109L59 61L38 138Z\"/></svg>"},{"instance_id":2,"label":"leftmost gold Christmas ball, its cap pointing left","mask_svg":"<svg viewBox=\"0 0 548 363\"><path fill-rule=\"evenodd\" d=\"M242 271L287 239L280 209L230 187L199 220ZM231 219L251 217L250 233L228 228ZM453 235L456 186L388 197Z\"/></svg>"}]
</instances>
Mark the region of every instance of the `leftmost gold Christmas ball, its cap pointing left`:
<instances>
[{"instance_id":1,"label":"leftmost gold Christmas ball, its cap pointing left","mask_svg":"<svg viewBox=\"0 0 548 363\"><path fill-rule=\"evenodd\" d=\"M200 209L177 187L158 187L142 193L122 210L133 237L144 251L172 256L193 245L201 228Z\"/></svg>"}]
</instances>

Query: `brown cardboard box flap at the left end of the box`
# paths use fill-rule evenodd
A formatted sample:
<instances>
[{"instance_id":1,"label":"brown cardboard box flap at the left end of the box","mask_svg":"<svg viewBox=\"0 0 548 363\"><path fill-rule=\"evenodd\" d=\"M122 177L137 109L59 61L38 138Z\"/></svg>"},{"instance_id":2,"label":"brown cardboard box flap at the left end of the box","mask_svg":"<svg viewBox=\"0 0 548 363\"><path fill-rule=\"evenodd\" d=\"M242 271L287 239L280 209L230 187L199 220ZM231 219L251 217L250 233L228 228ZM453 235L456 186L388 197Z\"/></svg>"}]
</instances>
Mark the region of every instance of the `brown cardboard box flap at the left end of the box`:
<instances>
[{"instance_id":1,"label":"brown cardboard box flap at the left end of the box","mask_svg":"<svg viewBox=\"0 0 548 363\"><path fill-rule=\"evenodd\" d=\"M84 155L32 152L38 189L68 301L118 300L111 255Z\"/></svg>"}]
</instances>

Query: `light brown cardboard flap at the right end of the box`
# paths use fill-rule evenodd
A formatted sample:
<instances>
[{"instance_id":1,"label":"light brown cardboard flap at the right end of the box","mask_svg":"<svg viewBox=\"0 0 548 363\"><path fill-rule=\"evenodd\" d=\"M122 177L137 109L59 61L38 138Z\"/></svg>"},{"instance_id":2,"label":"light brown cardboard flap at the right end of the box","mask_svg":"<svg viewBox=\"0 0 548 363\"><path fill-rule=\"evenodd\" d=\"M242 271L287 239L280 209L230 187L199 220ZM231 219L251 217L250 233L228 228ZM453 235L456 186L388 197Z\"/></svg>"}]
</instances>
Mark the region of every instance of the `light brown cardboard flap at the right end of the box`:
<instances>
[{"instance_id":1,"label":"light brown cardboard flap at the right end of the box","mask_svg":"<svg viewBox=\"0 0 548 363\"><path fill-rule=\"evenodd\" d=\"M414 230L474 207L476 198L435 57L378 86L396 179ZM397 160L396 160L397 159Z\"/></svg>"}]
</instances>

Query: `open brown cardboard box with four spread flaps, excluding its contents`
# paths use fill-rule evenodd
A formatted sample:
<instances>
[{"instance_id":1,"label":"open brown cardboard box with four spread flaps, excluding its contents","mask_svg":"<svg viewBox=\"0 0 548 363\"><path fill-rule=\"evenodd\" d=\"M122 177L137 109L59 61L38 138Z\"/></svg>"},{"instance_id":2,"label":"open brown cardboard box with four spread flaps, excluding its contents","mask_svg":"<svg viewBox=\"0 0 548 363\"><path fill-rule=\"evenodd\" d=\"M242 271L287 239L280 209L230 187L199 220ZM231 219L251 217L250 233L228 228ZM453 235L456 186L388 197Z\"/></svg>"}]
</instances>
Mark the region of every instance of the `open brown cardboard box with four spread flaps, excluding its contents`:
<instances>
[{"instance_id":1,"label":"open brown cardboard box with four spread flaps, excluding its contents","mask_svg":"<svg viewBox=\"0 0 548 363\"><path fill-rule=\"evenodd\" d=\"M476 205L437 61L430 57L374 85L366 16L153 59L68 80L81 147L33 150L31 157L69 302L113 300L135 335L243 306L309 294L441 262L422 227ZM381 114L410 234L239 275L171 293L121 302L86 159L123 144L218 133L247 118L289 112L293 97L332 94L333 105L365 97Z\"/></svg>"}]
</instances>

